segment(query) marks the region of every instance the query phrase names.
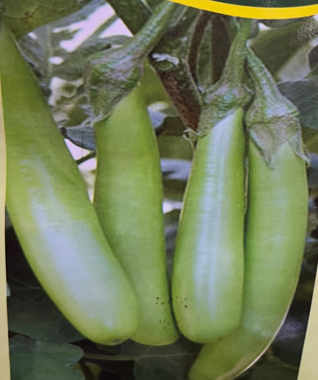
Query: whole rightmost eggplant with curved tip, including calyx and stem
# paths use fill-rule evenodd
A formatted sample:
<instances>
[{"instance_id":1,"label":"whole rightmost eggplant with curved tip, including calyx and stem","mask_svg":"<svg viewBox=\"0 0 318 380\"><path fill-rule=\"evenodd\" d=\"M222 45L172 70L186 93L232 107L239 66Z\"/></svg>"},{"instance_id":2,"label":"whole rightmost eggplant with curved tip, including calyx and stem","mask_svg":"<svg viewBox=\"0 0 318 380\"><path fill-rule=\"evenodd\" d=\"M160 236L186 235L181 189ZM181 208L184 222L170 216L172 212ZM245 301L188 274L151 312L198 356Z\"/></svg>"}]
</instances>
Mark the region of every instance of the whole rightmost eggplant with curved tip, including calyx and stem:
<instances>
[{"instance_id":1,"label":"whole rightmost eggplant with curved tip, including calyx and stem","mask_svg":"<svg viewBox=\"0 0 318 380\"><path fill-rule=\"evenodd\" d=\"M238 331L205 345L190 380L231 380L268 348L288 312L304 252L308 189L296 107L279 93L252 52L256 95L249 129L249 196L242 322Z\"/></svg>"}]
</instances>

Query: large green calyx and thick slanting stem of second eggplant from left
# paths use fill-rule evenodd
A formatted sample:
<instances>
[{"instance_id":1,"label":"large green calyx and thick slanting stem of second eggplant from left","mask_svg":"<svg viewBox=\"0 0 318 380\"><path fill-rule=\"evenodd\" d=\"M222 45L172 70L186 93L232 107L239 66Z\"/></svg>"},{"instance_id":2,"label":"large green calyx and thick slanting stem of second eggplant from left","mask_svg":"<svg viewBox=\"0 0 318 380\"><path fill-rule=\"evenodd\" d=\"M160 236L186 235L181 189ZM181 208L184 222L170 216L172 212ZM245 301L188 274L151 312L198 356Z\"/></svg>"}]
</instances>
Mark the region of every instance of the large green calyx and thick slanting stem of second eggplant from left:
<instances>
[{"instance_id":1,"label":"large green calyx and thick slanting stem of second eggplant from left","mask_svg":"<svg viewBox=\"0 0 318 380\"><path fill-rule=\"evenodd\" d=\"M105 119L137 85L143 61L167 29L175 7L175 3L163 2L142 30L122 47L88 58L85 87L94 122Z\"/></svg>"}]
</instances>

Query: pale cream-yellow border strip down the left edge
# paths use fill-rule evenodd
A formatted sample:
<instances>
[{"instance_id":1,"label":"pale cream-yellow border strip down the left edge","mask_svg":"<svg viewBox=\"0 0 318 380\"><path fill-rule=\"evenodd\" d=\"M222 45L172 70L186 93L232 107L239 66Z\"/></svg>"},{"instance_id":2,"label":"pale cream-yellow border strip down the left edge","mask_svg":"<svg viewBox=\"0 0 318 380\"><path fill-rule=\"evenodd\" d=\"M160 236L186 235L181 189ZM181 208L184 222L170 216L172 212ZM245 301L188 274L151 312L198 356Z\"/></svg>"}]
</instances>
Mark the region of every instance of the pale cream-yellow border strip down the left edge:
<instances>
[{"instance_id":1,"label":"pale cream-yellow border strip down the left edge","mask_svg":"<svg viewBox=\"0 0 318 380\"><path fill-rule=\"evenodd\" d=\"M6 144L0 80L0 378L10 380L5 262Z\"/></svg>"}]
</instances>

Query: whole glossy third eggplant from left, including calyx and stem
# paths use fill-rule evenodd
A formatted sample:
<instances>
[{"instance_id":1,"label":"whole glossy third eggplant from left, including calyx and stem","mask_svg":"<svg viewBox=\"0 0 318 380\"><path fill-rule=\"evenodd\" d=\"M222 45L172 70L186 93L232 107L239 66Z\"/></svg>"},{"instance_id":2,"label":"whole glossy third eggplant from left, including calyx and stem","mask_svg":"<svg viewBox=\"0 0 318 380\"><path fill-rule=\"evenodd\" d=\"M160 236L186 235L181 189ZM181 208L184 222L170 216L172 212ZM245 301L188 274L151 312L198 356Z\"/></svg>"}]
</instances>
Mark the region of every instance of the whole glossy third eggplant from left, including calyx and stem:
<instances>
[{"instance_id":1,"label":"whole glossy third eggplant from left, including calyx and stem","mask_svg":"<svg viewBox=\"0 0 318 380\"><path fill-rule=\"evenodd\" d=\"M220 81L205 97L194 163L184 196L172 276L173 309L181 332L211 342L238 327L244 273L242 88L244 20Z\"/></svg>"}]
</instances>

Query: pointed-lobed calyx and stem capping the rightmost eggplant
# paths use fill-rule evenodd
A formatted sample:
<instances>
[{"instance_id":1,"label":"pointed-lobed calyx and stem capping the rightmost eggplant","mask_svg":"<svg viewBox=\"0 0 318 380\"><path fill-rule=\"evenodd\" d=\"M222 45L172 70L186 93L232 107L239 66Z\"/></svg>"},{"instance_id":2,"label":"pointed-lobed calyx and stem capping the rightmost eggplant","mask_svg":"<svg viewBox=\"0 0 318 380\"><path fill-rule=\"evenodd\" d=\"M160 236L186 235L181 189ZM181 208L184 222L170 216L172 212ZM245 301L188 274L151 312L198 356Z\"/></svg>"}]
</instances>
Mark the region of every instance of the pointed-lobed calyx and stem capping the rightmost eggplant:
<instances>
[{"instance_id":1,"label":"pointed-lobed calyx and stem capping the rightmost eggplant","mask_svg":"<svg viewBox=\"0 0 318 380\"><path fill-rule=\"evenodd\" d=\"M250 49L247 62L255 87L255 98L246 113L250 138L269 166L272 166L277 150L286 142L296 155L309 162L297 107L283 97L269 71Z\"/></svg>"}]
</instances>

